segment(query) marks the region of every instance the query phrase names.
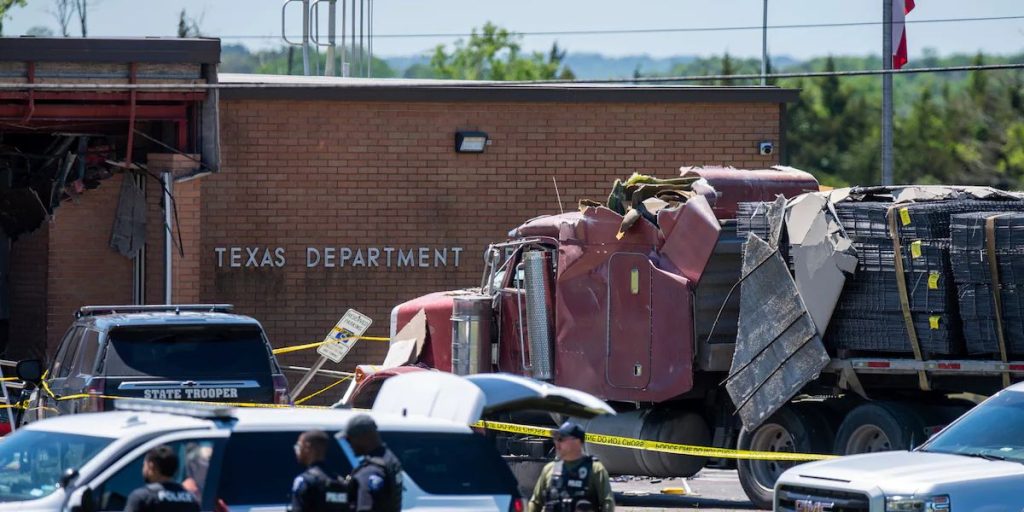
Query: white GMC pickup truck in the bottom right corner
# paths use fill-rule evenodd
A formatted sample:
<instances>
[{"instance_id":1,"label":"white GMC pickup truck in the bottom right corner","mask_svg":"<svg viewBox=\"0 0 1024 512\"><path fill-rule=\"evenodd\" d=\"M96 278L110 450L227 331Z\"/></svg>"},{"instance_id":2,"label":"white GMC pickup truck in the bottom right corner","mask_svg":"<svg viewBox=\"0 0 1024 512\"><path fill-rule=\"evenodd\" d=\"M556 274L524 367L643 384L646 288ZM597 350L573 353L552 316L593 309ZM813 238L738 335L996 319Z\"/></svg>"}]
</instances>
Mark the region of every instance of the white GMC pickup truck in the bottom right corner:
<instances>
[{"instance_id":1,"label":"white GMC pickup truck in the bottom right corner","mask_svg":"<svg viewBox=\"0 0 1024 512\"><path fill-rule=\"evenodd\" d=\"M1024 510L1024 383L912 452L804 464L775 484L776 511Z\"/></svg>"}]
</instances>

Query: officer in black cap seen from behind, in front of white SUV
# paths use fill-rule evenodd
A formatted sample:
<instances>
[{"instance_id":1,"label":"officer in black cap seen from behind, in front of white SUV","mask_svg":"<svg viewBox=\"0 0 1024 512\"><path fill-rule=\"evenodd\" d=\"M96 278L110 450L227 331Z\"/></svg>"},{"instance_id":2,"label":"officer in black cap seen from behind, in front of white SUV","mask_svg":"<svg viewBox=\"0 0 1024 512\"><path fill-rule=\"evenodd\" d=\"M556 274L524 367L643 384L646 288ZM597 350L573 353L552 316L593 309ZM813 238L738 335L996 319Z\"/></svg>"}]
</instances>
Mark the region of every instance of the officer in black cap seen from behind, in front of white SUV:
<instances>
[{"instance_id":1,"label":"officer in black cap seen from behind, in front of white SUV","mask_svg":"<svg viewBox=\"0 0 1024 512\"><path fill-rule=\"evenodd\" d=\"M381 440L373 418L368 415L352 417L339 435L344 436L352 452L362 458L352 470L354 510L401 510L401 464Z\"/></svg>"}]
</instances>

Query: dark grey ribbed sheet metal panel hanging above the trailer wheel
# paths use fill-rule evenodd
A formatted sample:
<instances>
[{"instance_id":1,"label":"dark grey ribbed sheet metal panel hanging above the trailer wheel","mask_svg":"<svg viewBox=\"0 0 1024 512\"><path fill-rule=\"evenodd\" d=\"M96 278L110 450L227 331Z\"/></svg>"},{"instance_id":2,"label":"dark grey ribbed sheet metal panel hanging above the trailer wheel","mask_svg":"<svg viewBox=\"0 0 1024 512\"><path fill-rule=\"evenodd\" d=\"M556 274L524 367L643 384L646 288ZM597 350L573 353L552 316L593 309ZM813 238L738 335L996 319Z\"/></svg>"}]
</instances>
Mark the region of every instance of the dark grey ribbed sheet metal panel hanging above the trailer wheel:
<instances>
[{"instance_id":1,"label":"dark grey ribbed sheet metal panel hanging above the trailer wheel","mask_svg":"<svg viewBox=\"0 0 1024 512\"><path fill-rule=\"evenodd\" d=\"M739 328L726 390L743 426L756 428L818 377L829 357L777 250L746 241Z\"/></svg>"}]
</instances>

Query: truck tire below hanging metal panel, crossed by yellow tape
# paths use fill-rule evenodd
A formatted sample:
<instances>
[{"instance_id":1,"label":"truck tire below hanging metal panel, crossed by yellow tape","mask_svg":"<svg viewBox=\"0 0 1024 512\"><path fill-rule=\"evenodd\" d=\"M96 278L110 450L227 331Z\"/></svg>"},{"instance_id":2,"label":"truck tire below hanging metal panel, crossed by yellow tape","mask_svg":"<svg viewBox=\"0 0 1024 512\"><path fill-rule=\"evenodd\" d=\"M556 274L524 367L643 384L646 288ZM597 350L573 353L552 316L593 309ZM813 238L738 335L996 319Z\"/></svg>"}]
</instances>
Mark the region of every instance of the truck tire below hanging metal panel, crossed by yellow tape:
<instances>
[{"instance_id":1,"label":"truck tire below hanging metal panel, crossed by yellow tape","mask_svg":"<svg viewBox=\"0 0 1024 512\"><path fill-rule=\"evenodd\" d=\"M778 410L753 431L739 431L739 450L824 454L831 447L833 430L811 404L791 404ZM775 481L797 463L736 461L739 484L755 507L772 508Z\"/></svg>"}]
</instances>

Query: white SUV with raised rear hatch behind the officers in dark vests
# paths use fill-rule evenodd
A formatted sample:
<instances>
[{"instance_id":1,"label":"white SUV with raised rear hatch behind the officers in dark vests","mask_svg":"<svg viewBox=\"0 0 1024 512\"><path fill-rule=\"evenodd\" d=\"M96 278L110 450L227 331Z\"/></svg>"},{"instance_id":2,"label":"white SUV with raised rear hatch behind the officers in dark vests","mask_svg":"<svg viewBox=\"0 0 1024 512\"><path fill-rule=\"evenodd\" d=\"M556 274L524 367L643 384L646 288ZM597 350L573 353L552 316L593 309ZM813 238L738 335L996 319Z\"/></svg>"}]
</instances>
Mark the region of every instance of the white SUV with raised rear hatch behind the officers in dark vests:
<instances>
[{"instance_id":1,"label":"white SUV with raised rear hatch behind the officers in dark vests","mask_svg":"<svg viewBox=\"0 0 1024 512\"><path fill-rule=\"evenodd\" d=\"M516 401L575 415L611 412L591 395L528 379L493 376L485 392L460 377L432 374L388 383L379 396L382 407L370 413L404 469L404 510L522 510L512 472L494 444L467 425L481 414ZM409 386L417 392L406 394ZM434 406L424 409L429 393ZM495 401L499 394L504 402ZM35 422L0 442L0 512L123 510L128 495L143 484L145 453L161 444L177 451L176 479L198 490L203 510L284 511L302 471L293 451L298 435L337 432L358 414L127 400L118 408ZM326 470L345 475L355 463L339 441Z\"/></svg>"}]
</instances>

